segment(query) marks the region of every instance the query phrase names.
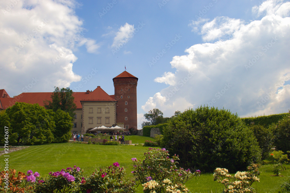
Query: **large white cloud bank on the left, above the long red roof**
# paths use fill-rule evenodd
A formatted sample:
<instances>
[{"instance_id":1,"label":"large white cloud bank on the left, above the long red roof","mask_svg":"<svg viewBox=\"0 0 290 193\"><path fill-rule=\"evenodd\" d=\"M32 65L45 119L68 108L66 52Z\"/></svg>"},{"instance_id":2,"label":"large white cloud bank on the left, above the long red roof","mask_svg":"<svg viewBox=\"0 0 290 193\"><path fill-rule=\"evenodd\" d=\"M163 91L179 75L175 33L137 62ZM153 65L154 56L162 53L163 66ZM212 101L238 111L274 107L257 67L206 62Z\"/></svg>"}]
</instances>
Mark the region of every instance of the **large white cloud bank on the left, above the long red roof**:
<instances>
[{"instance_id":1,"label":"large white cloud bank on the left, above the long red roof","mask_svg":"<svg viewBox=\"0 0 290 193\"><path fill-rule=\"evenodd\" d=\"M2 88L8 93L23 88L37 92L66 87L81 77L73 72L73 51L85 45L96 53L99 45L84 37L82 21L75 15L73 0L0 1L0 66ZM11 6L10 6L11 5ZM10 6L10 7L9 7ZM18 93L17 93L18 94Z\"/></svg>"}]
</instances>

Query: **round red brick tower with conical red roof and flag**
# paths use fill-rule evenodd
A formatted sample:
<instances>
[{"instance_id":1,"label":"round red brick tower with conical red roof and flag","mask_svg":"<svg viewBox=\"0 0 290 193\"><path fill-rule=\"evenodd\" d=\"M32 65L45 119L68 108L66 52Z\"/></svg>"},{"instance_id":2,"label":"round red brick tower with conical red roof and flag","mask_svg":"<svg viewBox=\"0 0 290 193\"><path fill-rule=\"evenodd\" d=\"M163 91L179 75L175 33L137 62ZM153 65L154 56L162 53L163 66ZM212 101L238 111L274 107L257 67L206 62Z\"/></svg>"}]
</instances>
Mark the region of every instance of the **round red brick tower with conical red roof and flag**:
<instances>
[{"instance_id":1,"label":"round red brick tower with conical red roof and flag","mask_svg":"<svg viewBox=\"0 0 290 193\"><path fill-rule=\"evenodd\" d=\"M113 78L115 87L115 99L117 123L124 123L128 131L133 127L137 129L137 81L138 78L127 71Z\"/></svg>"}]
</instances>

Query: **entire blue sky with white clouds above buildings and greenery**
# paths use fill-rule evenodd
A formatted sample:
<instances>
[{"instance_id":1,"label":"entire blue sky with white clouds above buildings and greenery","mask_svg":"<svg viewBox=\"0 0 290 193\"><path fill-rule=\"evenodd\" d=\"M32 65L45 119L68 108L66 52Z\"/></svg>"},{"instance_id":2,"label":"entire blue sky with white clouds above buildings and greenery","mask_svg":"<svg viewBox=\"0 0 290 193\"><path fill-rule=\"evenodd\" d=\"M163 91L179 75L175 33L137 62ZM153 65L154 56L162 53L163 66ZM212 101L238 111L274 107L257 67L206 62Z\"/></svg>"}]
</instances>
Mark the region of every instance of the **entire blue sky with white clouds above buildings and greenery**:
<instances>
[{"instance_id":1,"label":"entire blue sky with white clouds above buildings and greenery","mask_svg":"<svg viewBox=\"0 0 290 193\"><path fill-rule=\"evenodd\" d=\"M113 95L126 66L138 77L138 129L153 108L285 113L289 16L282 0L1 0L0 89Z\"/></svg>"}]
</instances>

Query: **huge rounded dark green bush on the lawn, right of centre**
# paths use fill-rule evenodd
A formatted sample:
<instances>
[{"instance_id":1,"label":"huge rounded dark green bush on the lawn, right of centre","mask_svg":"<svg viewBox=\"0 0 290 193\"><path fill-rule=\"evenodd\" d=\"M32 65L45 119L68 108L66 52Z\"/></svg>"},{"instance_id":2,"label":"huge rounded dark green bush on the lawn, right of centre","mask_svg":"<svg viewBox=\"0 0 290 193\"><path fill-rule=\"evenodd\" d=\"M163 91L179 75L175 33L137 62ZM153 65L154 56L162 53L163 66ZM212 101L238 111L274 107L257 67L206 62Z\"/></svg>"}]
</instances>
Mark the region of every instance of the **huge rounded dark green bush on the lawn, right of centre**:
<instances>
[{"instance_id":1,"label":"huge rounded dark green bush on the lawn, right of centre","mask_svg":"<svg viewBox=\"0 0 290 193\"><path fill-rule=\"evenodd\" d=\"M261 161L253 131L229 110L186 110L169 121L163 135L162 146L178 154L181 165L206 172L217 167L236 172Z\"/></svg>"}]
</instances>

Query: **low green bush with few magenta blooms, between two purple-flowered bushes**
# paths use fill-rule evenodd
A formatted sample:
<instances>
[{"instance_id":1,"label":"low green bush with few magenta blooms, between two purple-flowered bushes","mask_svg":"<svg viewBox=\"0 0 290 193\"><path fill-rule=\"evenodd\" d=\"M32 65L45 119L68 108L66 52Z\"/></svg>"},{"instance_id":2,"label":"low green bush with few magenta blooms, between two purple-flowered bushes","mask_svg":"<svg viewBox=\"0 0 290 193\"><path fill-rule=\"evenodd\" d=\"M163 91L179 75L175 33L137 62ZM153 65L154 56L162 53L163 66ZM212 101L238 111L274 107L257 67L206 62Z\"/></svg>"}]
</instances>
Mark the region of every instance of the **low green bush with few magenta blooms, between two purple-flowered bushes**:
<instances>
[{"instance_id":1,"label":"low green bush with few magenta blooms, between two purple-flowered bushes","mask_svg":"<svg viewBox=\"0 0 290 193\"><path fill-rule=\"evenodd\" d=\"M115 162L113 166L97 170L88 178L83 178L79 192L135 192L135 182L125 179L125 169Z\"/></svg>"}]
</instances>

